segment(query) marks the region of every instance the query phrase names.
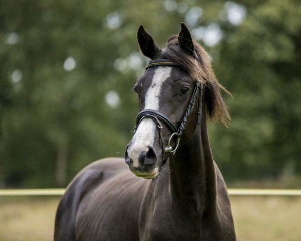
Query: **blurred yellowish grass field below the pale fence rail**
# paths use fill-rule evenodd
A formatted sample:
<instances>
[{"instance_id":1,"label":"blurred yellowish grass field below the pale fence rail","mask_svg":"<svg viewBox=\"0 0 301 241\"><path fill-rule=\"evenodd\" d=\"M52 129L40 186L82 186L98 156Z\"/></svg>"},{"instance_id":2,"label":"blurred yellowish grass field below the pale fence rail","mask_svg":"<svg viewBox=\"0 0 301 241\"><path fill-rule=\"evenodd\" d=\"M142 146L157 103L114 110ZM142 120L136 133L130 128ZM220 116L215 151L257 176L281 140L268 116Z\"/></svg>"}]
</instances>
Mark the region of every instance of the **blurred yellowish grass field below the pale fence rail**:
<instances>
[{"instance_id":1,"label":"blurred yellowish grass field below the pale fence rail","mask_svg":"<svg viewBox=\"0 0 301 241\"><path fill-rule=\"evenodd\" d=\"M59 198L0 197L0 241L53 239ZM301 197L231 197L240 241L301 240Z\"/></svg>"}]
</instances>

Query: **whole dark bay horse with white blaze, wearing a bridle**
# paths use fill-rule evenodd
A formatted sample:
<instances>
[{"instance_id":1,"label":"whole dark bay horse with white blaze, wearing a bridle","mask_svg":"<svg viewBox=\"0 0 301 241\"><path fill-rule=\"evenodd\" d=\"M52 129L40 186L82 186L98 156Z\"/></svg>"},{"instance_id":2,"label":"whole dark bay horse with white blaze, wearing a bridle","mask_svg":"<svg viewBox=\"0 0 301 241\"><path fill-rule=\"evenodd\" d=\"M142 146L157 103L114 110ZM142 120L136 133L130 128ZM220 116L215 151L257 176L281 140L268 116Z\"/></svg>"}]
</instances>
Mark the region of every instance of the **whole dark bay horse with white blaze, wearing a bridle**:
<instances>
[{"instance_id":1,"label":"whole dark bay horse with white blaze, wearing a bridle","mask_svg":"<svg viewBox=\"0 0 301 241\"><path fill-rule=\"evenodd\" d=\"M151 60L134 86L140 112L125 163L102 159L74 178L54 240L236 240L207 136L206 118L229 119L210 57L183 23L165 49L142 25L137 38Z\"/></svg>"}]
</instances>

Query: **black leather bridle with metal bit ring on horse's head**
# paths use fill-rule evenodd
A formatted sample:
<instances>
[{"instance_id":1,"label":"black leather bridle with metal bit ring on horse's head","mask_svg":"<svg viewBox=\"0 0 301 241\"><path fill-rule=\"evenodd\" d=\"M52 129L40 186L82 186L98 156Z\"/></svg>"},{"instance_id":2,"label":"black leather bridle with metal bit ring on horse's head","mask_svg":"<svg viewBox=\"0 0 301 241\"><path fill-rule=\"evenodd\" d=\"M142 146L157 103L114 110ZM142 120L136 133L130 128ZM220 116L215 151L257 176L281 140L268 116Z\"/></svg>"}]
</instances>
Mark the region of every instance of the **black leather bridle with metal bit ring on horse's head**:
<instances>
[{"instance_id":1,"label":"black leather bridle with metal bit ring on horse's head","mask_svg":"<svg viewBox=\"0 0 301 241\"><path fill-rule=\"evenodd\" d=\"M159 65L179 66L176 62L173 62L171 60L159 59L159 60L149 61L146 65L146 69L148 69L149 67L159 66ZM172 123L170 121L170 119L168 117L166 117L164 114L160 113L157 110L144 109L138 113L138 115L136 117L135 131L137 130L142 119L144 119L144 118L151 118L156 123L156 127L158 128L159 136L160 136L160 139L162 142L162 149L163 149L163 155L164 155L163 160L165 160L169 156L173 156L175 154L175 152L179 146L180 136L182 135L182 132L187 123L187 119L188 119L191 111L193 110L198 91L199 91L199 102L198 102L196 125L200 125L201 119L202 119L202 97L203 97L203 84L200 81L196 81L196 83L194 85L194 89L193 89L190 101L187 105L182 122L178 128L174 125L174 123ZM163 137L162 137L162 133L161 133L161 129L162 129L161 122L163 122L172 132L172 135L170 136L170 138L168 140L167 146L164 145L164 141L163 141ZM176 138L176 146L174 149L171 147L171 140L173 138Z\"/></svg>"}]
</instances>

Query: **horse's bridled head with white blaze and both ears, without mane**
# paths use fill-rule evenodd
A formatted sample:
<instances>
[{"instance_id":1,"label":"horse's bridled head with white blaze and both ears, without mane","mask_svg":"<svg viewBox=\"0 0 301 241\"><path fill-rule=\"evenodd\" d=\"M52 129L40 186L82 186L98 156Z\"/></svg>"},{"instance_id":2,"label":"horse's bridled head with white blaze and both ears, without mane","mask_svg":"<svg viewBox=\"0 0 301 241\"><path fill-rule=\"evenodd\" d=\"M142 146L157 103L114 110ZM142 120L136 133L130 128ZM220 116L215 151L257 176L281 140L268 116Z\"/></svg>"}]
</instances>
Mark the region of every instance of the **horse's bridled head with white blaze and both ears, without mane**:
<instances>
[{"instance_id":1,"label":"horse's bridled head with white blaze and both ears, without mane","mask_svg":"<svg viewBox=\"0 0 301 241\"><path fill-rule=\"evenodd\" d=\"M200 121L203 87L202 81L188 73L181 63L194 63L198 58L185 24L182 23L178 35L168 40L165 50L142 25L137 39L141 52L151 60L134 85L140 112L134 136L126 148L125 162L136 176L150 179L176 152L180 136L181 144L192 137L196 119ZM199 117L188 118L190 112Z\"/></svg>"}]
</instances>

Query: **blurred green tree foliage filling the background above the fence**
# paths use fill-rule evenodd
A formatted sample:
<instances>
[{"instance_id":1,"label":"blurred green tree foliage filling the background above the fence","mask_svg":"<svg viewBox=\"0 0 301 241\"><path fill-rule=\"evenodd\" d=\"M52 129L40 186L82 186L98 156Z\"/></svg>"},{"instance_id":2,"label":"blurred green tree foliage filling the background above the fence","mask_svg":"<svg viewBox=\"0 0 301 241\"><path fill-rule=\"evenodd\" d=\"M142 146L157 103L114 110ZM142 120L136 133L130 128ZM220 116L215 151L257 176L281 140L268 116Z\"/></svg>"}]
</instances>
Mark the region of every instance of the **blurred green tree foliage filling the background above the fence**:
<instances>
[{"instance_id":1,"label":"blurred green tree foliage filling the background above the fence","mask_svg":"<svg viewBox=\"0 0 301 241\"><path fill-rule=\"evenodd\" d=\"M0 186L65 186L124 154L143 73L136 30L160 45L184 21L213 57L232 122L210 124L226 180L301 173L298 1L2 0Z\"/></svg>"}]
</instances>

